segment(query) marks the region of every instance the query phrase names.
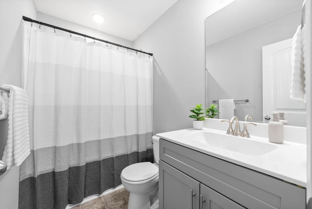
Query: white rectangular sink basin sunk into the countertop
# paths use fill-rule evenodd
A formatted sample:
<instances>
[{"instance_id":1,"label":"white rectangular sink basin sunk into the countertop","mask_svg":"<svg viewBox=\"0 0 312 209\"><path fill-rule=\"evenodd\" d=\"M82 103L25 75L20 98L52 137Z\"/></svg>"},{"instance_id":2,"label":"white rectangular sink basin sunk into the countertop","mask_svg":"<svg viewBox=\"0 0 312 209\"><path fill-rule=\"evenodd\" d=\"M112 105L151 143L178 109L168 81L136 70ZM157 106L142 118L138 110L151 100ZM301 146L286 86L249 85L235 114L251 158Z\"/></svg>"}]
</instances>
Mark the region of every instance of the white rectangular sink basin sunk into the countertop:
<instances>
[{"instance_id":1,"label":"white rectangular sink basin sunk into the countertop","mask_svg":"<svg viewBox=\"0 0 312 209\"><path fill-rule=\"evenodd\" d=\"M247 155L263 155L278 148L276 145L252 141L248 138L217 134L207 131L196 132L185 136L188 140L193 140L209 146L240 152Z\"/></svg>"}]
</instances>

